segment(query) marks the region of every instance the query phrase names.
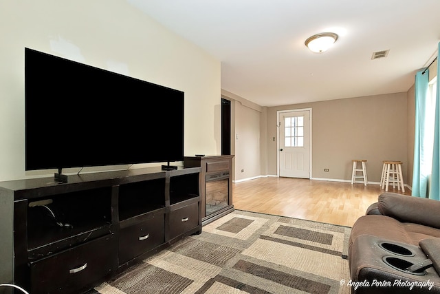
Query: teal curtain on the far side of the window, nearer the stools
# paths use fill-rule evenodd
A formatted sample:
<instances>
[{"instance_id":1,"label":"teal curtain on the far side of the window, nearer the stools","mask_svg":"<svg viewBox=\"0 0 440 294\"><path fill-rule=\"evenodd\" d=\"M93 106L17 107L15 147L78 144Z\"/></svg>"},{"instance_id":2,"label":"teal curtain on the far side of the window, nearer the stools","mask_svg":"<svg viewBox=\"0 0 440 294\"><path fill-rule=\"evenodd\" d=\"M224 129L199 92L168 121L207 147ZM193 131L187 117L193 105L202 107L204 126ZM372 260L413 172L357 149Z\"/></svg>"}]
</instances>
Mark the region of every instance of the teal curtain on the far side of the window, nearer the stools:
<instances>
[{"instance_id":1,"label":"teal curtain on the far side of the window, nearer the stools","mask_svg":"<svg viewBox=\"0 0 440 294\"><path fill-rule=\"evenodd\" d=\"M426 198L428 181L431 173L432 149L426 148L426 112L428 108L429 72L423 70L415 75L415 138L414 138L414 169L412 171L412 196ZM428 167L426 167L428 165Z\"/></svg>"}]
</instances>

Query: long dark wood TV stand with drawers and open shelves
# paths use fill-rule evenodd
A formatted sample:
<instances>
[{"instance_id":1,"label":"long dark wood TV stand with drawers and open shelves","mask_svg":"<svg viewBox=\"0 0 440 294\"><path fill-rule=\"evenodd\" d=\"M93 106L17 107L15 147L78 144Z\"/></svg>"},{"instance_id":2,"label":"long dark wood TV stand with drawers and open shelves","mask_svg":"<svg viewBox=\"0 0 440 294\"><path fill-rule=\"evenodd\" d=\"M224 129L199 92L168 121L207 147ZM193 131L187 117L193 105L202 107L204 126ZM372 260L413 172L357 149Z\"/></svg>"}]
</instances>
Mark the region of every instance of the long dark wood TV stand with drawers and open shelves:
<instances>
[{"instance_id":1,"label":"long dark wood TV stand with drawers and open shelves","mask_svg":"<svg viewBox=\"0 0 440 294\"><path fill-rule=\"evenodd\" d=\"M201 233L199 167L0 182L0 284L82 293ZM12 293L0 288L0 293Z\"/></svg>"}]
</instances>

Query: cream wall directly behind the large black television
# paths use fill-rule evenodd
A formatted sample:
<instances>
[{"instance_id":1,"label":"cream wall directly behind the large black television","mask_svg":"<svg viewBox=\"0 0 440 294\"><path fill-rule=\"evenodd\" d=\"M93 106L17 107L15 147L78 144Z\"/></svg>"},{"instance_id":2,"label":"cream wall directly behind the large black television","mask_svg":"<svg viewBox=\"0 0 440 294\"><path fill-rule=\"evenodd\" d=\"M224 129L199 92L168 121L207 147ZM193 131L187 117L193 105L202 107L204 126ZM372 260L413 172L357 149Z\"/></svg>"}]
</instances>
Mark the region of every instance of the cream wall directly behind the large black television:
<instances>
[{"instance_id":1,"label":"cream wall directly behind the large black television","mask_svg":"<svg viewBox=\"0 0 440 294\"><path fill-rule=\"evenodd\" d=\"M184 91L185 154L220 153L220 62L129 2L3 0L0 19L0 181L54 172L24 170L25 47Z\"/></svg>"}]
</instances>

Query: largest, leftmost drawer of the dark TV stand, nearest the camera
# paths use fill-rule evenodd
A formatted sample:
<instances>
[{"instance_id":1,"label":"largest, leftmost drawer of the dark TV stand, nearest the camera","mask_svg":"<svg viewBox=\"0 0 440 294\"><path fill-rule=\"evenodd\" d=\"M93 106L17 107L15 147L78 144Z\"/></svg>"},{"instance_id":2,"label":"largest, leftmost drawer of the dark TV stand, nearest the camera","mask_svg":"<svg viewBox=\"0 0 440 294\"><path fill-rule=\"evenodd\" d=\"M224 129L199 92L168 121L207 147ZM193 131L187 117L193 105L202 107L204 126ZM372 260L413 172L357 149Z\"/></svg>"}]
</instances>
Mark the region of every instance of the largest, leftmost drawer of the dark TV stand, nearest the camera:
<instances>
[{"instance_id":1,"label":"largest, leftmost drawer of the dark TV stand, nearest the camera","mask_svg":"<svg viewBox=\"0 0 440 294\"><path fill-rule=\"evenodd\" d=\"M110 234L31 262L30 293L80 293L115 271L115 251Z\"/></svg>"}]
</instances>

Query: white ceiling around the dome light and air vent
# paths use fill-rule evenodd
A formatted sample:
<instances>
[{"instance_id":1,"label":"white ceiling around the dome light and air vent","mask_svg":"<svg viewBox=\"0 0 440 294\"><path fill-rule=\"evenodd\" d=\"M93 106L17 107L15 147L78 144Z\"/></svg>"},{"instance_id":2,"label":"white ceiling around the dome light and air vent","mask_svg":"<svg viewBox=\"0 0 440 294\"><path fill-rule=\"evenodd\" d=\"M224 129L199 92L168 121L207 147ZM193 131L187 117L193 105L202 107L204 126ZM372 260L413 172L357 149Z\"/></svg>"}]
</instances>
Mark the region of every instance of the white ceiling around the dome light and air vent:
<instances>
[{"instance_id":1,"label":"white ceiling around the dome light and air vent","mask_svg":"<svg viewBox=\"0 0 440 294\"><path fill-rule=\"evenodd\" d=\"M440 0L127 1L219 59L221 88L261 106L406 92L440 41ZM305 39L320 32L339 39L312 53Z\"/></svg>"}]
</instances>

